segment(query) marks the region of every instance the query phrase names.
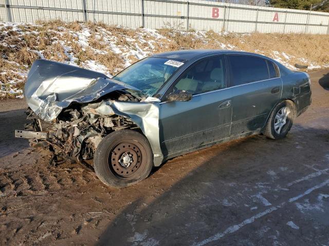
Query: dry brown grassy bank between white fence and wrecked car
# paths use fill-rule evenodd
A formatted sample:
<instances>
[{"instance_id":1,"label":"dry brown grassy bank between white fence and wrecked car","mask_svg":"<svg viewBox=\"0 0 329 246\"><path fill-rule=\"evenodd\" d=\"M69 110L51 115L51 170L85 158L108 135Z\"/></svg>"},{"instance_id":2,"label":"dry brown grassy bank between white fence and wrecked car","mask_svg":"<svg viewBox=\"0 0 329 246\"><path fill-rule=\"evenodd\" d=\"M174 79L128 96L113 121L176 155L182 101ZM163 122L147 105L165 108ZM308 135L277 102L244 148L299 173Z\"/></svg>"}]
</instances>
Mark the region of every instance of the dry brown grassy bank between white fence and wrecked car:
<instances>
[{"instance_id":1,"label":"dry brown grassy bank between white fence and wrecked car","mask_svg":"<svg viewBox=\"0 0 329 246\"><path fill-rule=\"evenodd\" d=\"M23 88L24 78L19 74L27 73L33 61L39 58L38 51L46 59L67 61L69 57L64 46L67 47L68 53L77 58L78 65L83 65L87 60L95 60L106 66L111 74L124 68L124 59L129 59L130 63L137 61L136 56L129 53L130 50L138 50L136 46L144 52L154 54L180 49L222 49L223 46L231 45L235 50L258 52L270 57L273 57L273 51L278 51L280 58L288 61L290 65L302 63L300 58L320 66L329 64L329 35L222 34L213 31L196 35L196 32L191 30L180 32L167 26L157 31L164 38L156 38L143 29L134 30L92 22L67 24L61 20L16 27L19 29L13 30L11 26L0 27L0 81L1 87L6 90L13 88L9 83L12 80L19 81L14 88ZM87 47L81 46L77 36L84 28L88 28L92 34L88 37ZM110 48L109 40L126 55L115 54ZM285 59L282 52L289 55L290 60ZM0 98L4 96L15 95L0 93Z\"/></svg>"}]
</instances>

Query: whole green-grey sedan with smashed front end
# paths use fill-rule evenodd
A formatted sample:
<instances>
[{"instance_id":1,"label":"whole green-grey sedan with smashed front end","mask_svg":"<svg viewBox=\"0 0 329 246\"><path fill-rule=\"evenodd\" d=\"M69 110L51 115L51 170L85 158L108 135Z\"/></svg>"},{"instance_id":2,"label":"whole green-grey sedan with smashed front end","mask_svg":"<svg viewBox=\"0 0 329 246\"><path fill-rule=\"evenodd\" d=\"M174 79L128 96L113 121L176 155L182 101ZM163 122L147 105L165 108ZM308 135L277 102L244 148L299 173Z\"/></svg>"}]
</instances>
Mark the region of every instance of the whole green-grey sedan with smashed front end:
<instances>
[{"instance_id":1,"label":"whole green-grey sedan with smashed front end","mask_svg":"<svg viewBox=\"0 0 329 246\"><path fill-rule=\"evenodd\" d=\"M31 123L15 136L48 148L54 164L82 163L112 187L230 139L282 138L311 95L306 73L265 56L216 50L153 55L113 78L36 60L24 93Z\"/></svg>"}]
</instances>

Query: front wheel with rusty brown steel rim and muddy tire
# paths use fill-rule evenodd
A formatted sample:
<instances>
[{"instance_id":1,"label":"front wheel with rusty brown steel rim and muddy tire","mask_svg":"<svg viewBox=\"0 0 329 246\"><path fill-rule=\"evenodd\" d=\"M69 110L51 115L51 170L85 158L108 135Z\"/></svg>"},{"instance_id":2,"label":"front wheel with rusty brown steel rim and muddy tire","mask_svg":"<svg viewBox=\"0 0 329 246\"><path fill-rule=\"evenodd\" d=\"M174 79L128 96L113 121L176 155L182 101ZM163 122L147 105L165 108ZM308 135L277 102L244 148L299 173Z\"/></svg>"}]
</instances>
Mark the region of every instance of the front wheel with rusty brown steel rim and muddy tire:
<instances>
[{"instance_id":1,"label":"front wheel with rusty brown steel rim and muddy tire","mask_svg":"<svg viewBox=\"0 0 329 246\"><path fill-rule=\"evenodd\" d=\"M153 167L149 141L132 130L120 130L102 139L94 156L97 177L107 186L122 188L147 178Z\"/></svg>"}]
</instances>

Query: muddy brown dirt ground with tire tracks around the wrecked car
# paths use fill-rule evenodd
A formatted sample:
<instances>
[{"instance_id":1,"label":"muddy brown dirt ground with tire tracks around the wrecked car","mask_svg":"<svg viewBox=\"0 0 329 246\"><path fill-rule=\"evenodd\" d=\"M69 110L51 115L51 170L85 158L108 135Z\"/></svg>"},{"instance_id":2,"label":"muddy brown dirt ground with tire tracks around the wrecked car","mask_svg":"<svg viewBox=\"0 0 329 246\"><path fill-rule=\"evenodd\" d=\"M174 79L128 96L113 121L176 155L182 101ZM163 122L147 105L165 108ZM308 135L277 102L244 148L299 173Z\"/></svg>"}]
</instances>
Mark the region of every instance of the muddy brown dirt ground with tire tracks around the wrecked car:
<instances>
[{"instance_id":1,"label":"muddy brown dirt ground with tire tracks around the wrecked car","mask_svg":"<svg viewBox=\"0 0 329 246\"><path fill-rule=\"evenodd\" d=\"M48 166L0 101L1 245L329 245L329 70L285 139L251 136L169 160L125 189Z\"/></svg>"}]
</instances>

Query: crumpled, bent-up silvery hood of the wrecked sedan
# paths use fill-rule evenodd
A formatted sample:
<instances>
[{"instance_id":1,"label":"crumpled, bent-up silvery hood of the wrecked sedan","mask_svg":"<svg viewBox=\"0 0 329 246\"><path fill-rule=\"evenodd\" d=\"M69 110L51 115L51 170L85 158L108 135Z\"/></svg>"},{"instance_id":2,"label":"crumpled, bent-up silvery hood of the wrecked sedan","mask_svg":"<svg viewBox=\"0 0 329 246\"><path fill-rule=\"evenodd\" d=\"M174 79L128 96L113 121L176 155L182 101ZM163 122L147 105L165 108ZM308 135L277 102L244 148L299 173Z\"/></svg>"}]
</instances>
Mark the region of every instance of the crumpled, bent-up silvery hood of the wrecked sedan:
<instances>
[{"instance_id":1,"label":"crumpled, bent-up silvery hood of the wrecked sedan","mask_svg":"<svg viewBox=\"0 0 329 246\"><path fill-rule=\"evenodd\" d=\"M102 73L39 59L28 73L24 96L36 115L50 121L72 102L88 103L123 89L138 91Z\"/></svg>"}]
</instances>

